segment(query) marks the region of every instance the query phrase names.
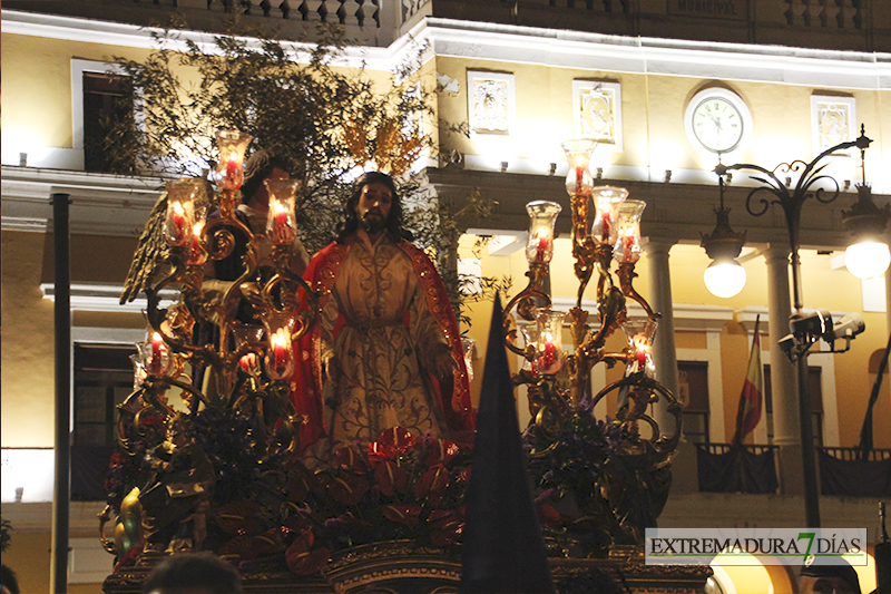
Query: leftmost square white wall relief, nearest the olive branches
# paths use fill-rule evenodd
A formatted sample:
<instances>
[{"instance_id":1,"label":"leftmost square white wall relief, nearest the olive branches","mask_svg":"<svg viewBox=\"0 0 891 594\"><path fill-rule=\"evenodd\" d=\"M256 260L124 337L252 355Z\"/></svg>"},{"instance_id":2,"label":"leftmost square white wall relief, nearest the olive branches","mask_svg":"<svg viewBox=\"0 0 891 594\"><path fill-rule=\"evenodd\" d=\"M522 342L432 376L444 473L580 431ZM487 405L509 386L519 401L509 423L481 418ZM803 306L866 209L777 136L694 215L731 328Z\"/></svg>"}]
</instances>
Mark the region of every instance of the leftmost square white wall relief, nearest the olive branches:
<instances>
[{"instance_id":1,"label":"leftmost square white wall relief, nearest the olive branches","mask_svg":"<svg viewBox=\"0 0 891 594\"><path fill-rule=\"evenodd\" d=\"M516 120L513 75L468 70L468 115L473 134L510 134Z\"/></svg>"}]
</instances>

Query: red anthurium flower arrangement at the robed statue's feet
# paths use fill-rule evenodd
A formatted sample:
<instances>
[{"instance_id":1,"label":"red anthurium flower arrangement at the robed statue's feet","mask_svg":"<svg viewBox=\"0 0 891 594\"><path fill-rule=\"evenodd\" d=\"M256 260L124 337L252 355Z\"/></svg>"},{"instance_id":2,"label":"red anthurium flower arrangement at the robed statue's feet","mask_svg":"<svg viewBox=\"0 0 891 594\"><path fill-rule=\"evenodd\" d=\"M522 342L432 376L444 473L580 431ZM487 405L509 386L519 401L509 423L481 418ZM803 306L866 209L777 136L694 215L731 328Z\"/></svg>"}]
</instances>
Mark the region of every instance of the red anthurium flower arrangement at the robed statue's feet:
<instances>
[{"instance_id":1,"label":"red anthurium flower arrangement at the robed statue's feet","mask_svg":"<svg viewBox=\"0 0 891 594\"><path fill-rule=\"evenodd\" d=\"M449 547L460 542L469 444L419 439L396 427L376 441L337 450L329 466L311 470L300 460L281 458L257 465L251 459L249 429L239 430L246 426L203 435L209 427L195 428L195 441L206 448L217 474L204 548L242 571L286 567L313 575L332 553L351 546L412 539L419 546ZM245 448L242 456L235 455L238 446ZM107 485L117 497L124 490L119 486L131 483L123 476L134 467L118 454L110 469Z\"/></svg>"}]
</instances>

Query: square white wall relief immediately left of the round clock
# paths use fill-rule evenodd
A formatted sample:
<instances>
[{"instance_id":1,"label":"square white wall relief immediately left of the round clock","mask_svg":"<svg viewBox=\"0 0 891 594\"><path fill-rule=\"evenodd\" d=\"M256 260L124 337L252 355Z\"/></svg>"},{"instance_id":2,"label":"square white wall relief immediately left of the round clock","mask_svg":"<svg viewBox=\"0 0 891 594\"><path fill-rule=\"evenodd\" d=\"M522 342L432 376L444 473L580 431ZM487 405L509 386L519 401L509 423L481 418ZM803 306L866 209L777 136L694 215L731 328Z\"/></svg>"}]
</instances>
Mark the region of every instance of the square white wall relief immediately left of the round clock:
<instances>
[{"instance_id":1,"label":"square white wall relief immediately left of the round clock","mask_svg":"<svg viewBox=\"0 0 891 594\"><path fill-rule=\"evenodd\" d=\"M598 80L572 81L575 133L601 148L621 150L621 85Z\"/></svg>"}]
</instances>

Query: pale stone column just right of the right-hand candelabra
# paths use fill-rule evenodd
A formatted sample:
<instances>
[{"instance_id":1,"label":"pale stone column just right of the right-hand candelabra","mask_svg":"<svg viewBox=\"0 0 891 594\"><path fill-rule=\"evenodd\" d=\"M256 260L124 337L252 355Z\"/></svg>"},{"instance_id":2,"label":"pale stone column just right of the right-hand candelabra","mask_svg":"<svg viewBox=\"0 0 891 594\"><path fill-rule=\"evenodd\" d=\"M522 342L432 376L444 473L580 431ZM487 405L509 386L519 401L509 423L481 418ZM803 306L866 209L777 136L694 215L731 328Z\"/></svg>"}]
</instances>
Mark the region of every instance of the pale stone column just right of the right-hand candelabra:
<instances>
[{"instance_id":1,"label":"pale stone column just right of the right-hand candelabra","mask_svg":"<svg viewBox=\"0 0 891 594\"><path fill-rule=\"evenodd\" d=\"M656 379L673 395L679 391L677 374L677 350L675 349L675 318L672 306L672 273L668 269L668 251L675 242L653 240L646 244L649 271L649 305L662 314L656 340L653 343L653 362L656 364ZM674 432L674 418L668 415L665 402L656 403L654 418L663 434Z\"/></svg>"}]
</instances>

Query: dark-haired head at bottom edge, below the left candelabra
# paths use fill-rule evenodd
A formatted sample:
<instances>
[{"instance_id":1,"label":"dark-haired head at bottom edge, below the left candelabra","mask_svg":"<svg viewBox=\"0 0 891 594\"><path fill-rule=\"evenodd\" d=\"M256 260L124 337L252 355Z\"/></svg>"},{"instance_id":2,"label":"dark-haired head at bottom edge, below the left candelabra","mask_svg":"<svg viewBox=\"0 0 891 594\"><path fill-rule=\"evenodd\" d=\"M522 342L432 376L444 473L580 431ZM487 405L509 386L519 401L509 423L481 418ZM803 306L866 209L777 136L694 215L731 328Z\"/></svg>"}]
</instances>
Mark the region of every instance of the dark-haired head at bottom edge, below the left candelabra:
<instances>
[{"instance_id":1,"label":"dark-haired head at bottom edge, below the left candelabra","mask_svg":"<svg viewBox=\"0 0 891 594\"><path fill-rule=\"evenodd\" d=\"M155 567L143 594L242 594L235 567L209 553L180 553Z\"/></svg>"}]
</instances>

